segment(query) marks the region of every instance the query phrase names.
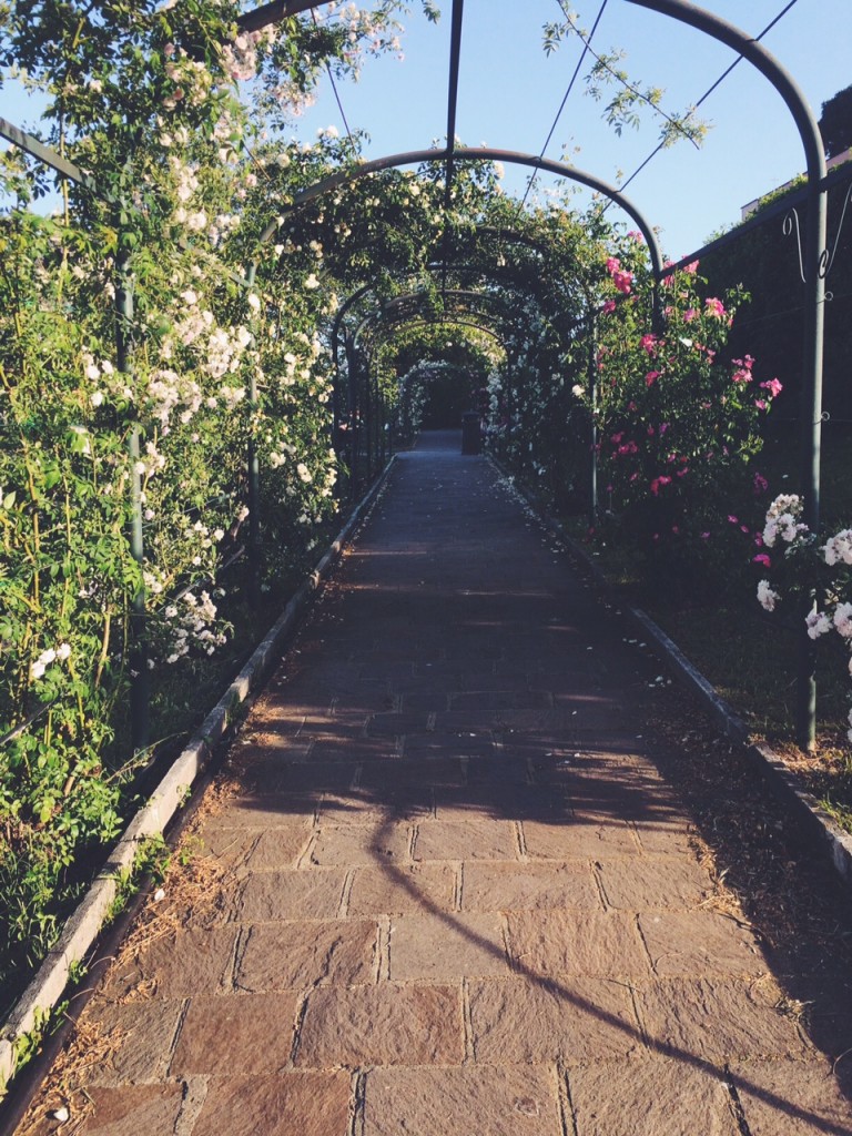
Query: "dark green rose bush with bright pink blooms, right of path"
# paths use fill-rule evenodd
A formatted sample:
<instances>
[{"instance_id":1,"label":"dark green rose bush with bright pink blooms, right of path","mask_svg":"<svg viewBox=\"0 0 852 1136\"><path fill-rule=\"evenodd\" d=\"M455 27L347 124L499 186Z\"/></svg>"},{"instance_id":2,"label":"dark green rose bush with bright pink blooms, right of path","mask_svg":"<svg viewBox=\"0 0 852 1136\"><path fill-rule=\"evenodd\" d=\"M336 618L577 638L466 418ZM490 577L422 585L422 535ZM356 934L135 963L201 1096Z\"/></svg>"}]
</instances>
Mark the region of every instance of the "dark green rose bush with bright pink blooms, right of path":
<instances>
[{"instance_id":1,"label":"dark green rose bush with bright pink blooms, right of path","mask_svg":"<svg viewBox=\"0 0 852 1136\"><path fill-rule=\"evenodd\" d=\"M782 386L755 375L750 356L732 359L743 295L707 296L695 267L663 282L663 329L651 332L626 296L601 317L598 349L607 500L654 573L690 587L729 585L737 560L750 559L766 491L752 461Z\"/></svg>"}]
</instances>

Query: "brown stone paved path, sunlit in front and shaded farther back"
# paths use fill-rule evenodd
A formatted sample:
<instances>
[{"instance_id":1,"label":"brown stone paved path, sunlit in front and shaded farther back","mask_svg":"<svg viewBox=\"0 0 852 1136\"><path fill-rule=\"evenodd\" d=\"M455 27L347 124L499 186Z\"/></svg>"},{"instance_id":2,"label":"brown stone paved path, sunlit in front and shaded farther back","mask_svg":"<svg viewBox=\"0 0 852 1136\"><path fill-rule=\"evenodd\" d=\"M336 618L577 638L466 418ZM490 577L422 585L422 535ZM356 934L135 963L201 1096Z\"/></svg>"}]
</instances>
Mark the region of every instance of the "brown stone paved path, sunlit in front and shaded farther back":
<instances>
[{"instance_id":1,"label":"brown stone paved path, sunlit in front and shaded farther back","mask_svg":"<svg viewBox=\"0 0 852 1136\"><path fill-rule=\"evenodd\" d=\"M550 544L457 435L400 456L204 816L215 886L86 1010L75 1131L852 1133Z\"/></svg>"}]
</instances>

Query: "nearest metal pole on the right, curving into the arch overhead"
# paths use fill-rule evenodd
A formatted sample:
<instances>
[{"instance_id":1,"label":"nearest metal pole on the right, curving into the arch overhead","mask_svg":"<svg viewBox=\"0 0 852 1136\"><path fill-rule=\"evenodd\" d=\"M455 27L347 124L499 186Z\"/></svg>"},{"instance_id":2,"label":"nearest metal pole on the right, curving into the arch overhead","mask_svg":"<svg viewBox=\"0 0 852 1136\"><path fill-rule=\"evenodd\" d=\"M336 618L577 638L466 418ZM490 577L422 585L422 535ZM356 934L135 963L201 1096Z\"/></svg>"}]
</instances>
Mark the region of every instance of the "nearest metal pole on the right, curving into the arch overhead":
<instances>
[{"instance_id":1,"label":"nearest metal pole on the right, curving into the arch overhead","mask_svg":"<svg viewBox=\"0 0 852 1136\"><path fill-rule=\"evenodd\" d=\"M808 100L795 80L762 44L746 32L699 8L687 0L627 0L690 24L700 32L727 43L738 51L769 80L784 99L795 120L808 162L808 216L802 270L804 276L804 373L802 376L802 470L804 496L803 519L809 529L819 533L819 458L822 429L822 346L825 277L821 258L826 247L826 176L822 137ZM816 596L808 599L801 612L799 666L796 677L796 738L805 750L812 750L817 737L816 652L808 637L804 616L813 609Z\"/></svg>"}]
</instances>

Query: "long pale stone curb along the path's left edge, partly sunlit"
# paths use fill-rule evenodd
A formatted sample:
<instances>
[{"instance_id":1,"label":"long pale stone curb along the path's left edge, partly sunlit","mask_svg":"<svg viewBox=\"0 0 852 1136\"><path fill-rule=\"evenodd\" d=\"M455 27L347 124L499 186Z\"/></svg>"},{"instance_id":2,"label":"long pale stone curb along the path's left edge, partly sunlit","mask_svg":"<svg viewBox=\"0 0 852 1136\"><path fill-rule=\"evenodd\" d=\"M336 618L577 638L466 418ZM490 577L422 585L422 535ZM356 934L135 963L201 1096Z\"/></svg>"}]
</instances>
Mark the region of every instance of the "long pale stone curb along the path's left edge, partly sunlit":
<instances>
[{"instance_id":1,"label":"long pale stone curb along the path's left edge, partly sunlit","mask_svg":"<svg viewBox=\"0 0 852 1136\"><path fill-rule=\"evenodd\" d=\"M15 1074L15 1046L26 1034L39 1028L57 1005L70 979L70 969L80 962L100 934L110 904L118 894L122 872L133 868L140 843L161 836L168 821L186 803L191 787L210 762L214 747L225 735L234 710L245 701L276 661L283 640L303 615L308 601L328 575L356 526L385 485L394 454L375 485L352 510L349 520L325 556L301 583L284 611L254 649L233 683L199 727L198 734L175 759L151 797L140 809L112 847L107 863L80 905L68 918L53 950L15 1004L0 1029L0 1086Z\"/></svg>"}]
</instances>

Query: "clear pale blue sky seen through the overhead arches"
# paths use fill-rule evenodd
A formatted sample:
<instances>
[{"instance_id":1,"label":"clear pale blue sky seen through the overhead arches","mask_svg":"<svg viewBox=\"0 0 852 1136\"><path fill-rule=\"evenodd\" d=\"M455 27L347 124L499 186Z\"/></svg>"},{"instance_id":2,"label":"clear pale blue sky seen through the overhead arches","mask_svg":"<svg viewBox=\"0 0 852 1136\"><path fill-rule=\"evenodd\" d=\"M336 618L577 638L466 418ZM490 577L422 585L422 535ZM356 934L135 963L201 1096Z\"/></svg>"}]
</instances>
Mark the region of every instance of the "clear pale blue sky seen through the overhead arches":
<instances>
[{"instance_id":1,"label":"clear pale blue sky seen through the overhead arches","mask_svg":"<svg viewBox=\"0 0 852 1136\"><path fill-rule=\"evenodd\" d=\"M575 0L579 23L591 28L602 0ZM701 7L752 35L786 0L707 0ZM412 0L412 9L419 7ZM368 157L428 147L446 128L451 0L443 19L428 24L412 10L403 36L404 59L368 60L358 84L340 84L346 118L370 135ZM468 145L540 152L552 125L580 44L566 40L546 57L542 26L559 18L557 0L466 0L457 134ZM762 41L796 80L817 117L820 105L852 83L852 0L797 0ZM621 48L635 81L666 90L663 106L694 103L733 61L734 53L692 28L628 0L607 0L594 39L601 50ZM34 111L11 90L0 93L0 114L20 124ZM661 229L665 251L688 253L740 217L743 204L804 168L797 131L767 80L741 62L702 107L712 128L700 150L682 142L654 158L627 190L648 220ZM318 127L342 130L327 81L317 105L293 127L306 139ZM576 166L604 181L628 176L653 150L659 125L646 117L638 131L615 134L601 106L578 82L557 127L548 157L562 148ZM523 192L526 172L507 169L506 186ZM542 192L554 184L538 179ZM586 200L578 193L577 203ZM780 240L780 236L779 236Z\"/></svg>"}]
</instances>

